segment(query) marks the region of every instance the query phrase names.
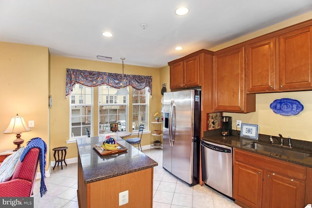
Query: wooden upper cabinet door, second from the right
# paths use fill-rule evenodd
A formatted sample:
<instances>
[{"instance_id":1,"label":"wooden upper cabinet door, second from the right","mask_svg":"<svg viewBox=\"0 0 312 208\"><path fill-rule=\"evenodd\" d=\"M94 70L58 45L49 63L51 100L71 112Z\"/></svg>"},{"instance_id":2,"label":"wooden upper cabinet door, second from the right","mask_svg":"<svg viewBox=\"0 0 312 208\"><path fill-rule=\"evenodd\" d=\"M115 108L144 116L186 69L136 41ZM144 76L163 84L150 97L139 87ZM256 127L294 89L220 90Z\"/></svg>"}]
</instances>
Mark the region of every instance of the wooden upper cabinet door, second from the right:
<instances>
[{"instance_id":1,"label":"wooden upper cabinet door, second from the right","mask_svg":"<svg viewBox=\"0 0 312 208\"><path fill-rule=\"evenodd\" d=\"M274 91L275 38L247 45L247 92Z\"/></svg>"}]
</instances>

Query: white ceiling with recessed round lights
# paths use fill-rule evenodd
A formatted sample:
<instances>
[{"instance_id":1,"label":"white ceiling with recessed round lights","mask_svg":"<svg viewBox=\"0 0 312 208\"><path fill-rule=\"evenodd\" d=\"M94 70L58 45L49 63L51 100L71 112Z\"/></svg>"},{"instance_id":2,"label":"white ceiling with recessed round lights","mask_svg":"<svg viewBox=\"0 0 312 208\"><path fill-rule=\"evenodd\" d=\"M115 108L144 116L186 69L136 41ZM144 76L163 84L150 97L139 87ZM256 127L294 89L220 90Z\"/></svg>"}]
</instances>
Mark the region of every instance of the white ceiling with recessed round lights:
<instances>
[{"instance_id":1,"label":"white ceiling with recessed round lights","mask_svg":"<svg viewBox=\"0 0 312 208\"><path fill-rule=\"evenodd\" d=\"M177 16L179 6L189 14ZM310 11L312 0L0 0L0 41L159 68Z\"/></svg>"}]
</instances>

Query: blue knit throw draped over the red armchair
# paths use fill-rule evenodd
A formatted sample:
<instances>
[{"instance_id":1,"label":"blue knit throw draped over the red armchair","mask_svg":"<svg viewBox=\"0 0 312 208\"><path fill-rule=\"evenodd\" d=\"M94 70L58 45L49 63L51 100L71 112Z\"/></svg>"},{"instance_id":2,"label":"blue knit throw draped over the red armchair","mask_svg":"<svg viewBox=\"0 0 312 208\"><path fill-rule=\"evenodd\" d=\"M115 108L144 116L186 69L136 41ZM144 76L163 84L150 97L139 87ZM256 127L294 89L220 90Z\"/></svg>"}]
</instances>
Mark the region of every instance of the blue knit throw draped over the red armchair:
<instances>
[{"instance_id":1,"label":"blue knit throw draped over the red armchair","mask_svg":"<svg viewBox=\"0 0 312 208\"><path fill-rule=\"evenodd\" d=\"M47 153L47 145L45 142L40 138L32 138L27 142L27 146L25 150L20 155L20 162L23 162L26 154L32 149L38 148L39 149L39 165L40 165L40 172L41 172L41 181L40 181L40 196L42 197L43 194L47 192L47 188L44 183L45 178L45 158Z\"/></svg>"}]
</instances>

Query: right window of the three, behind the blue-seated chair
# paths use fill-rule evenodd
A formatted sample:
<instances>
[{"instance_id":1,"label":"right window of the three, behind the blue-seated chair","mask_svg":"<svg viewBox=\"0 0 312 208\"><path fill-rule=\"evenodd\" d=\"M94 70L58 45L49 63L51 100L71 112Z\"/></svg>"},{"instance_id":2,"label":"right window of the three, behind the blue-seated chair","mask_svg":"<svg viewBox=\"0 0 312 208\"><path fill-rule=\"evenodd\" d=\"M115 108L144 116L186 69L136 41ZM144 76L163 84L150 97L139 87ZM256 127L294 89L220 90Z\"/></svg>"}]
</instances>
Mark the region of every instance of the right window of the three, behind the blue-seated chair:
<instances>
[{"instance_id":1,"label":"right window of the three, behind the blue-seated chair","mask_svg":"<svg viewBox=\"0 0 312 208\"><path fill-rule=\"evenodd\" d=\"M138 130L140 124L144 124L144 129L148 128L148 96L147 87L142 90L133 89L132 91L132 122L135 129Z\"/></svg>"}]
</instances>

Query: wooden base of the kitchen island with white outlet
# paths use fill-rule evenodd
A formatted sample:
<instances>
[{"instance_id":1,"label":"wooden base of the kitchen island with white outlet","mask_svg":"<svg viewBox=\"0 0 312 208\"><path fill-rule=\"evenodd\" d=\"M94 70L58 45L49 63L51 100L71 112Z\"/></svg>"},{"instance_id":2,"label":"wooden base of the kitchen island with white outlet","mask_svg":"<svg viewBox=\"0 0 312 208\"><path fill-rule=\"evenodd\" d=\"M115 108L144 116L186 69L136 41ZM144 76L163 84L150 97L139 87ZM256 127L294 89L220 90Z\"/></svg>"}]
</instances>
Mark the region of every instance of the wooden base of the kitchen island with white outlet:
<instances>
[{"instance_id":1,"label":"wooden base of the kitchen island with white outlet","mask_svg":"<svg viewBox=\"0 0 312 208\"><path fill-rule=\"evenodd\" d=\"M117 208L119 192L125 190L129 190L129 203L122 208L152 208L153 168L86 184L78 165L79 208Z\"/></svg>"}]
</instances>

